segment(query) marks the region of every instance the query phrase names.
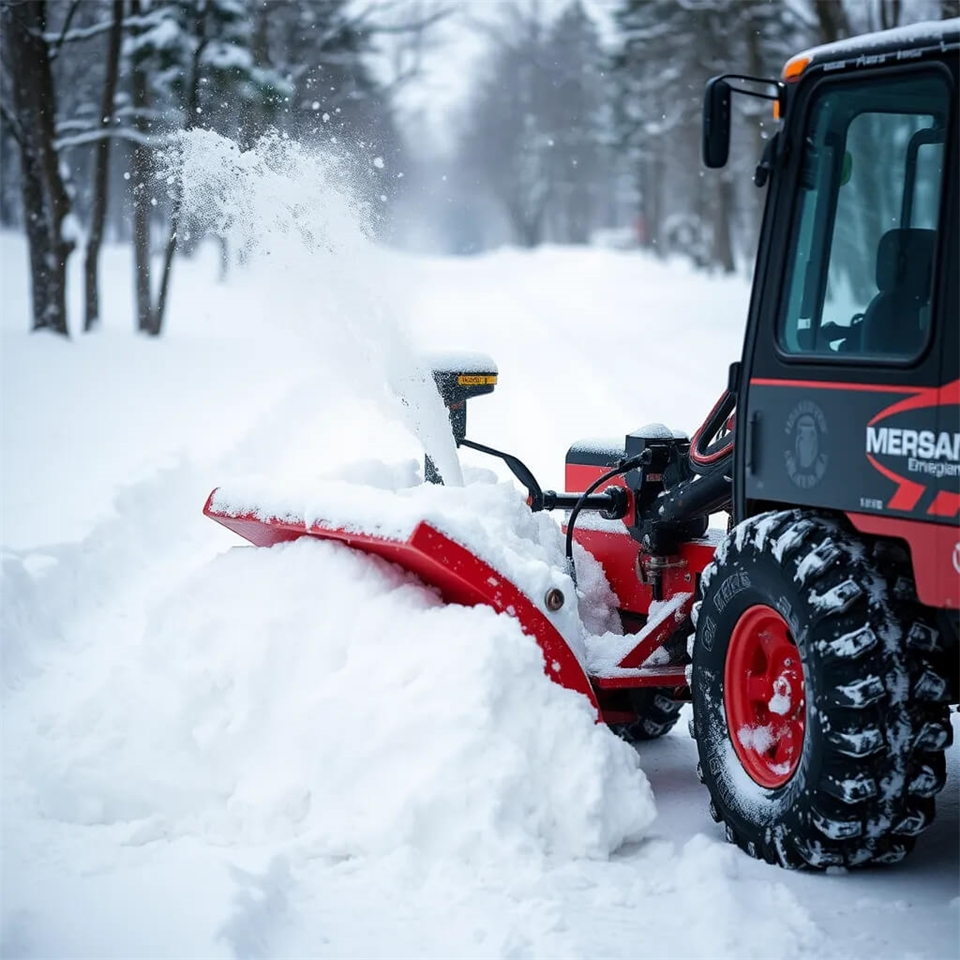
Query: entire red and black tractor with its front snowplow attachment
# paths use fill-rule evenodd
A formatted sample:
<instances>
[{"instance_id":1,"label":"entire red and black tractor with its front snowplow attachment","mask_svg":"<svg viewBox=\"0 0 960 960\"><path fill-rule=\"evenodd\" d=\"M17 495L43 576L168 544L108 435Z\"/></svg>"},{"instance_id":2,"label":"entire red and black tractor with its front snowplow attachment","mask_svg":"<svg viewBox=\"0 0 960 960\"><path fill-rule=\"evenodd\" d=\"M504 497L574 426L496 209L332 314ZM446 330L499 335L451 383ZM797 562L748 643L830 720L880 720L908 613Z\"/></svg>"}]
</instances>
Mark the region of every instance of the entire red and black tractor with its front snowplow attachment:
<instances>
[{"instance_id":1,"label":"entire red and black tractor with its front snowplow attachment","mask_svg":"<svg viewBox=\"0 0 960 960\"><path fill-rule=\"evenodd\" d=\"M707 85L708 167L726 162L733 94L772 101L780 126L755 176L767 197L741 357L691 439L652 426L575 444L576 492L543 490L465 436L492 364L438 370L458 443L502 457L531 510L568 511L567 571L576 541L606 572L622 637L578 658L556 627L573 598L524 596L426 523L390 539L236 515L216 491L206 513L257 544L341 540L451 602L512 613L547 673L634 742L692 701L710 812L751 856L901 859L933 820L960 686L958 52L951 20L806 51L778 80ZM720 511L728 530L711 535Z\"/></svg>"}]
</instances>

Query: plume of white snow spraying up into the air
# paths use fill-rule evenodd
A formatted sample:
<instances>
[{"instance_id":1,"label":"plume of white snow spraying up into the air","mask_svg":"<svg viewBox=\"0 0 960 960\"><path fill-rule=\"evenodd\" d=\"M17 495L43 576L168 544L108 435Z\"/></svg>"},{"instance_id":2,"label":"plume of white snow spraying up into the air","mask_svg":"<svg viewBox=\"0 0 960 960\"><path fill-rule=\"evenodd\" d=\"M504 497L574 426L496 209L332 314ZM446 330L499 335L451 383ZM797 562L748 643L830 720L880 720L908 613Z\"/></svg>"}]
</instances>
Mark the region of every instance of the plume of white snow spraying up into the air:
<instances>
[{"instance_id":1,"label":"plume of white snow spraying up into the air","mask_svg":"<svg viewBox=\"0 0 960 960\"><path fill-rule=\"evenodd\" d=\"M460 485L447 413L404 328L404 290L373 240L356 169L345 153L277 134L242 150L191 130L163 176L180 176L189 223L225 238L253 267L252 295L308 343L331 402L372 400L418 437L446 483Z\"/></svg>"}]
</instances>

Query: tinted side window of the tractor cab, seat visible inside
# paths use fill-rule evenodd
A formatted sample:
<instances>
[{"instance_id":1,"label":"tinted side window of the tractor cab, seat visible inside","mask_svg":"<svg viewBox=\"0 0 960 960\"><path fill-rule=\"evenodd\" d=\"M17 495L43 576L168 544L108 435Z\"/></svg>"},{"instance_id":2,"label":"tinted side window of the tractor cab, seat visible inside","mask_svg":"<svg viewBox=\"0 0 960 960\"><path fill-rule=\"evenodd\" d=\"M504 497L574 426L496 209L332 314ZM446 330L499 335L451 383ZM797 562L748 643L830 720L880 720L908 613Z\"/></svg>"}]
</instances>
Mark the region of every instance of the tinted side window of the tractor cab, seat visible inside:
<instances>
[{"instance_id":1,"label":"tinted side window of the tractor cab, seat visible inside","mask_svg":"<svg viewBox=\"0 0 960 960\"><path fill-rule=\"evenodd\" d=\"M949 118L938 73L821 88L804 136L783 350L899 361L922 351Z\"/></svg>"}]
</instances>

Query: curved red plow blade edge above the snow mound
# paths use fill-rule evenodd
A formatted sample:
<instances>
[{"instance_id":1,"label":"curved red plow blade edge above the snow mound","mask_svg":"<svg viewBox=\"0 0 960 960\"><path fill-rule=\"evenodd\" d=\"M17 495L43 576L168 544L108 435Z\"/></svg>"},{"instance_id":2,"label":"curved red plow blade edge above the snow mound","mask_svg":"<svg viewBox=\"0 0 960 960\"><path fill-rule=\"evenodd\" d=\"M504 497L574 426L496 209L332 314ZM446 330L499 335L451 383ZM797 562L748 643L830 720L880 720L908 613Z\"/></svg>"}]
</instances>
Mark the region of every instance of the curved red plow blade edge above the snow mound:
<instances>
[{"instance_id":1,"label":"curved red plow blade edge above the snow mound","mask_svg":"<svg viewBox=\"0 0 960 960\"><path fill-rule=\"evenodd\" d=\"M483 603L500 613L512 614L519 620L523 631L543 650L547 675L561 686L582 693L599 711L590 679L547 615L493 567L430 524L419 523L407 540L391 540L318 525L307 526L302 520L262 520L252 514L228 516L213 509L215 493L216 490L207 499L204 514L258 547L273 546L302 536L337 540L410 570L424 583L436 587L449 603L465 606Z\"/></svg>"}]
</instances>

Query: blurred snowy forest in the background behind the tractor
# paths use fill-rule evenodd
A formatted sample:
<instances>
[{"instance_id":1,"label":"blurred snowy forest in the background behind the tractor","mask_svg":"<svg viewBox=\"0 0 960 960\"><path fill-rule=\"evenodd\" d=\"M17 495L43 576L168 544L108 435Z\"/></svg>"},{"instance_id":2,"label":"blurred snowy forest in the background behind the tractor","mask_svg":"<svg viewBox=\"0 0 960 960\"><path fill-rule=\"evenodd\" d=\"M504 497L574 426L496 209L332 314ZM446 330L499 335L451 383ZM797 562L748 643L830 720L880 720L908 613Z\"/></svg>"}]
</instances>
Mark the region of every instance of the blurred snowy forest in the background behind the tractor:
<instances>
[{"instance_id":1,"label":"blurred snowy forest in the background behind the tractor","mask_svg":"<svg viewBox=\"0 0 960 960\"><path fill-rule=\"evenodd\" d=\"M732 162L704 170L706 80L776 78L813 44L958 15L960 0L0 0L0 225L29 239L34 329L67 333L70 257L97 328L110 241L131 247L134 327L158 335L201 237L157 171L199 127L335 149L383 200L372 229L408 249L605 242L733 272L773 121L738 105ZM450 143L431 145L402 95L456 56L451 23L485 55ZM227 271L241 251L218 239Z\"/></svg>"}]
</instances>

